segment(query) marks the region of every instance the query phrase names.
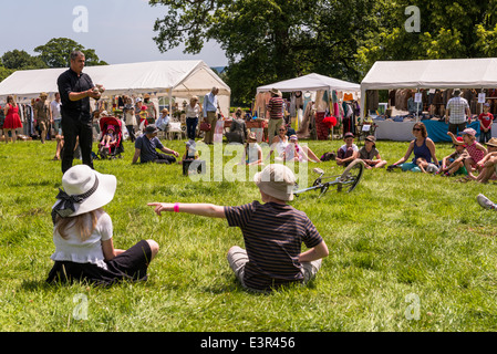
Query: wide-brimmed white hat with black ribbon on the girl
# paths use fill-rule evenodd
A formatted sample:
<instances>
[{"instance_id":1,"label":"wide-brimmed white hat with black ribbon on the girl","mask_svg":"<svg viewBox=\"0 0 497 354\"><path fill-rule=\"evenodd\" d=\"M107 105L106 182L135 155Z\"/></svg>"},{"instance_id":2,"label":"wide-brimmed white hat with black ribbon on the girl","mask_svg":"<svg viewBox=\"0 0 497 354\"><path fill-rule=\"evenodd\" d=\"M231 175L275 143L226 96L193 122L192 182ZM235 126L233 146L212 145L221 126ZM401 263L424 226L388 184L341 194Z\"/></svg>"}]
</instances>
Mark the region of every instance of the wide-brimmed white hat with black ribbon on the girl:
<instances>
[{"instance_id":1,"label":"wide-brimmed white hat with black ribbon on the girl","mask_svg":"<svg viewBox=\"0 0 497 354\"><path fill-rule=\"evenodd\" d=\"M62 176L59 199L52 207L52 219L75 217L107 205L114 198L117 180L113 175L103 175L86 165L71 167Z\"/></svg>"}]
</instances>

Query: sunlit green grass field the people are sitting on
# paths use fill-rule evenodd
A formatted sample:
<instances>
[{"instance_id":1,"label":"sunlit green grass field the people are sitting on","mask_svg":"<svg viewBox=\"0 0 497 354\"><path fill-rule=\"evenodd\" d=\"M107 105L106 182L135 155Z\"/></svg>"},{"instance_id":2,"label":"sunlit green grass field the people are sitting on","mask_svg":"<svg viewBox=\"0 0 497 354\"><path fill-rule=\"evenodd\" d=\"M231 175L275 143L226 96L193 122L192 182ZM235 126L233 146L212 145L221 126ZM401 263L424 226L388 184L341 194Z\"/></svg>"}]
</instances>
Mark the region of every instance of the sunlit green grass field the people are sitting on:
<instances>
[{"instance_id":1,"label":"sunlit green grass field the people are sitting on","mask_svg":"<svg viewBox=\"0 0 497 354\"><path fill-rule=\"evenodd\" d=\"M321 154L342 142L309 142ZM167 142L184 152L184 142ZM379 142L393 163L407 143ZM244 246L226 220L188 215L157 217L149 201L241 205L259 199L250 183L198 181L179 165L96 160L117 177L105 208L114 244L156 240L161 250L144 283L110 289L48 285L52 266L51 207L62 177L54 142L0 145L0 329L17 331L496 331L497 214L476 202L497 199L495 185L455 183L414 173L366 170L351 194L308 192L292 205L308 214L330 256L314 282L270 294L242 290L226 261ZM437 144L437 156L452 153ZM76 160L76 163L80 163ZM309 181L312 181L308 166ZM320 165L341 171L334 162ZM74 315L87 300L87 317ZM417 312L418 310L418 312Z\"/></svg>"}]
</instances>

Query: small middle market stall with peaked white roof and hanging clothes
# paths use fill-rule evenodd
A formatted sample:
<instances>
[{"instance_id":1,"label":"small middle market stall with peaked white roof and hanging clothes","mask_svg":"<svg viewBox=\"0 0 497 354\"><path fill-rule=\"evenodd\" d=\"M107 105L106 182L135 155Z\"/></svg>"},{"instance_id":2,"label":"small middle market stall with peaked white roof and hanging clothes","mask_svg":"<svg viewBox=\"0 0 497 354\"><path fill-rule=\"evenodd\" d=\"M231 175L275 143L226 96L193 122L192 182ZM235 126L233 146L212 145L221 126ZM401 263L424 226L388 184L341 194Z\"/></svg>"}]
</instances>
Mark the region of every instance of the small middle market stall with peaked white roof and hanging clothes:
<instances>
[{"instance_id":1,"label":"small middle market stall with peaked white roof and hanging clothes","mask_svg":"<svg viewBox=\"0 0 497 354\"><path fill-rule=\"evenodd\" d=\"M346 123L348 131L355 127L355 114L360 102L359 84L312 73L259 86L252 110L258 117L267 117L266 107L271 88L290 93L287 111L301 138L311 137L309 125L312 122L315 122L315 137L327 138L329 128L323 119L329 115L336 116L342 124Z\"/></svg>"}]
</instances>

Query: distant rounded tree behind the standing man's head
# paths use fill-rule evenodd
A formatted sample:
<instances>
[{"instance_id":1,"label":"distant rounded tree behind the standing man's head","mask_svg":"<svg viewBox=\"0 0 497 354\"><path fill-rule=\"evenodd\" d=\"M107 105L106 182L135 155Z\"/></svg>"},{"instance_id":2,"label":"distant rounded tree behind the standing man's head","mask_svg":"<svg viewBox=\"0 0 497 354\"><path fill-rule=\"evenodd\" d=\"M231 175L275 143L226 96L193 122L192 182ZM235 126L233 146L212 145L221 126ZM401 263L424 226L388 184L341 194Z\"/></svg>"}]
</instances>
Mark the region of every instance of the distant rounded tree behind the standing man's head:
<instances>
[{"instance_id":1,"label":"distant rounded tree behind the standing man's head","mask_svg":"<svg viewBox=\"0 0 497 354\"><path fill-rule=\"evenodd\" d=\"M82 44L68 38L53 38L46 44L39 45L34 52L40 53L40 59L49 67L69 67L70 56L73 51L84 53L86 66L107 65L101 61L93 49L85 49Z\"/></svg>"}]
</instances>

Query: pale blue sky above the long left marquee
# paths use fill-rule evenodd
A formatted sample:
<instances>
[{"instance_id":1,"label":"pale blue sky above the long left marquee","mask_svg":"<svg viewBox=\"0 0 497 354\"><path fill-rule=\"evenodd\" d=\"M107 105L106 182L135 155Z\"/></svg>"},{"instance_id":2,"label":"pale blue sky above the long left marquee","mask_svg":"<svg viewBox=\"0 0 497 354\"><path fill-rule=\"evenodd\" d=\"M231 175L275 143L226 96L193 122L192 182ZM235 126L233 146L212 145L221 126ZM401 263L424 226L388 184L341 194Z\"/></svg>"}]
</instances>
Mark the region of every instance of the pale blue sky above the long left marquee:
<instances>
[{"instance_id":1,"label":"pale blue sky above the long left marquee","mask_svg":"<svg viewBox=\"0 0 497 354\"><path fill-rule=\"evenodd\" d=\"M183 48L161 53L153 40L157 34L154 23L166 14L166 8L151 7L147 0L13 0L2 1L1 12L0 55L14 49L38 55L33 51L38 45L69 38L94 49L108 64L158 60L203 60L209 66L228 63L216 42L207 42L196 55L183 53Z\"/></svg>"}]
</instances>

